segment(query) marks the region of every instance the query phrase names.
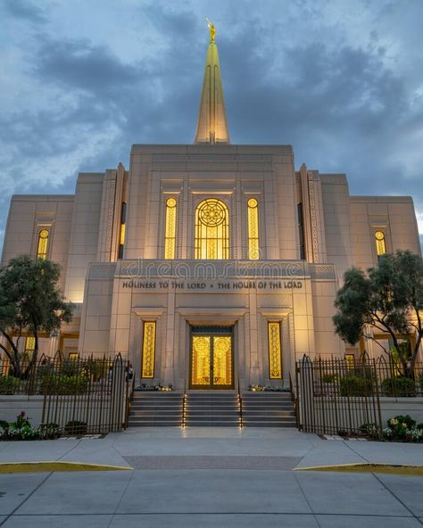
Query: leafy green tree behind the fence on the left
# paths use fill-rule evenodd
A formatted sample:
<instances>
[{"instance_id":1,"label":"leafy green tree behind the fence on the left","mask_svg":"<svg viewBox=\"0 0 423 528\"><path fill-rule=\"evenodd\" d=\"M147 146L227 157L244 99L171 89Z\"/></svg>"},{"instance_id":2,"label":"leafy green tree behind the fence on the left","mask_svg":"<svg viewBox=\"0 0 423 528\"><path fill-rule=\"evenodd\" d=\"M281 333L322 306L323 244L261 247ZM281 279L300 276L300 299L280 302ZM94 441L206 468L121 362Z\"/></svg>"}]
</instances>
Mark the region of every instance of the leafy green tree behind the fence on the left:
<instances>
[{"instance_id":1,"label":"leafy green tree behind the fence on the left","mask_svg":"<svg viewBox=\"0 0 423 528\"><path fill-rule=\"evenodd\" d=\"M0 334L9 345L0 343L0 349L11 360L12 375L27 375L37 361L40 332L51 334L60 329L62 321L71 321L73 306L63 301L59 276L58 264L28 255L16 257L0 269ZM18 351L22 332L35 339L35 350L23 372ZM13 342L13 336L18 342Z\"/></svg>"}]
</instances>

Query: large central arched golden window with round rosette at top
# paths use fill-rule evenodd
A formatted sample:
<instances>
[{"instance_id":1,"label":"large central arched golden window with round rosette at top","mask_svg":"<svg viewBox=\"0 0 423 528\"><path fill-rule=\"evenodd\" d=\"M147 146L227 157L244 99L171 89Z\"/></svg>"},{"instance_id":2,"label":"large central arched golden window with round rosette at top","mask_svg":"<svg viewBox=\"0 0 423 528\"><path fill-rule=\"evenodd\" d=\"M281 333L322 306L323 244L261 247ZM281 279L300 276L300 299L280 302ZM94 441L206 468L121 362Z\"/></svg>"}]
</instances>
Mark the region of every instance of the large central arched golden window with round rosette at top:
<instances>
[{"instance_id":1,"label":"large central arched golden window with round rosette at top","mask_svg":"<svg viewBox=\"0 0 423 528\"><path fill-rule=\"evenodd\" d=\"M195 210L195 259L228 258L228 207L214 198L204 200Z\"/></svg>"}]
</instances>

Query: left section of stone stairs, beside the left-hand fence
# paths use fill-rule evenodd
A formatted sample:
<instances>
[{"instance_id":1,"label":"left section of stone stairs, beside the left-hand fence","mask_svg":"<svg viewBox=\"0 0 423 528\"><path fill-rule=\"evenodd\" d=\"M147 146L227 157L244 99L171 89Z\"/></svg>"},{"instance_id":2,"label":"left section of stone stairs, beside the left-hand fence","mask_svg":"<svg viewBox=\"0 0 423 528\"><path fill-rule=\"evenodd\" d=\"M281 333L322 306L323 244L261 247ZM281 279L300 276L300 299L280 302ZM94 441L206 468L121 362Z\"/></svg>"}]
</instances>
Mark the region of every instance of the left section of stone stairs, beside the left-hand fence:
<instances>
[{"instance_id":1,"label":"left section of stone stairs, beside the left-hand fence","mask_svg":"<svg viewBox=\"0 0 423 528\"><path fill-rule=\"evenodd\" d=\"M182 422L180 392L134 392L129 427L174 427Z\"/></svg>"}]
</instances>

